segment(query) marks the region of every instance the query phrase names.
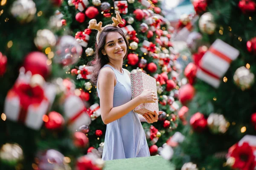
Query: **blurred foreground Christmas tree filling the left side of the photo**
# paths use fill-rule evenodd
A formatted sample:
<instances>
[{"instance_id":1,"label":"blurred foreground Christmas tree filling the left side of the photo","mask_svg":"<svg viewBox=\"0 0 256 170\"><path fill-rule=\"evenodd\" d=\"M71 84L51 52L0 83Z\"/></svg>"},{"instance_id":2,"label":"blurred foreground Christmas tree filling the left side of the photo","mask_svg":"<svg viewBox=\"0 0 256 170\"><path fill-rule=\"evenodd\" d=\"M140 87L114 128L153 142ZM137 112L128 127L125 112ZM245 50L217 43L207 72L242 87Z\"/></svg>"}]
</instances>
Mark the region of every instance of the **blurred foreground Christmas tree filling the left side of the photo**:
<instances>
[{"instance_id":1,"label":"blurred foreground Christmas tree filling the left side of the photo","mask_svg":"<svg viewBox=\"0 0 256 170\"><path fill-rule=\"evenodd\" d=\"M0 169L102 169L100 158L84 156L88 138L72 130L67 114L83 103L63 66L75 63L82 48L74 37L61 37L61 0L0 5Z\"/></svg>"}]
</instances>

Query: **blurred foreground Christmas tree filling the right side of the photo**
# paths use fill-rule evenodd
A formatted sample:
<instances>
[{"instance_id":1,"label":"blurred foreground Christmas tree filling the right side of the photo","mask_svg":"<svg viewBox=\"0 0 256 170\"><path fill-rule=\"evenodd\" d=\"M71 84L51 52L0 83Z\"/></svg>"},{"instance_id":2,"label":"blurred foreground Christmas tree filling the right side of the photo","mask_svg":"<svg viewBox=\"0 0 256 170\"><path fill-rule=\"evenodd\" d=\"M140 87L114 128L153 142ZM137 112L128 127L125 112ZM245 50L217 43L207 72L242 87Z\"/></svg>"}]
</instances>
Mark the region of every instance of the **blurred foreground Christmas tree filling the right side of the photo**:
<instances>
[{"instance_id":1,"label":"blurred foreground Christmas tree filling the right side of the photo","mask_svg":"<svg viewBox=\"0 0 256 170\"><path fill-rule=\"evenodd\" d=\"M168 143L174 149L172 162L181 170L254 170L256 3L192 3L198 19L190 22L195 29L186 42L193 62L184 70L189 83L180 88L186 92L185 126L180 144Z\"/></svg>"}]
</instances>

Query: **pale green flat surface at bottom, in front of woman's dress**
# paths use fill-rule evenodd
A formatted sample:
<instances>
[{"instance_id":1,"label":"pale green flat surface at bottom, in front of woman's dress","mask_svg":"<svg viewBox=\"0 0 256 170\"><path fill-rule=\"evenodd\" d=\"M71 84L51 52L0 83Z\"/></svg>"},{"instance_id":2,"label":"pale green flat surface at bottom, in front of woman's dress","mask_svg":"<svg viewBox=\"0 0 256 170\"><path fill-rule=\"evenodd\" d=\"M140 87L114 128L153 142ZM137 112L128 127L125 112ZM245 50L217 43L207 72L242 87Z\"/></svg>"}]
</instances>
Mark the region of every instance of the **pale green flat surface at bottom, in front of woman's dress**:
<instances>
[{"instance_id":1,"label":"pale green flat surface at bottom, in front of woman's dress","mask_svg":"<svg viewBox=\"0 0 256 170\"><path fill-rule=\"evenodd\" d=\"M175 170L175 168L162 156L150 156L106 161L103 170Z\"/></svg>"}]
</instances>

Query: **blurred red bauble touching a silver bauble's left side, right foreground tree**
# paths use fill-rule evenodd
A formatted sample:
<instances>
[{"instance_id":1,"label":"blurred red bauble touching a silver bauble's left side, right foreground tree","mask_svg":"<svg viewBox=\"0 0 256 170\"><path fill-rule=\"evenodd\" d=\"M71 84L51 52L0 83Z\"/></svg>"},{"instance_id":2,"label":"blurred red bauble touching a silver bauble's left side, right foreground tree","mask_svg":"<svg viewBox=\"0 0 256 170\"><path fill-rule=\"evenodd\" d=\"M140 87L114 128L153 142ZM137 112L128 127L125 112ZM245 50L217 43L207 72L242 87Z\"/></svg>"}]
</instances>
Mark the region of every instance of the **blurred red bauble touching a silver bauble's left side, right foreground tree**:
<instances>
[{"instance_id":1,"label":"blurred red bauble touching a silver bauble's left side, right foreground tree","mask_svg":"<svg viewBox=\"0 0 256 170\"><path fill-rule=\"evenodd\" d=\"M205 119L204 114L202 113L195 113L190 118L190 125L192 126L195 132L202 132L207 127L207 119Z\"/></svg>"}]
</instances>

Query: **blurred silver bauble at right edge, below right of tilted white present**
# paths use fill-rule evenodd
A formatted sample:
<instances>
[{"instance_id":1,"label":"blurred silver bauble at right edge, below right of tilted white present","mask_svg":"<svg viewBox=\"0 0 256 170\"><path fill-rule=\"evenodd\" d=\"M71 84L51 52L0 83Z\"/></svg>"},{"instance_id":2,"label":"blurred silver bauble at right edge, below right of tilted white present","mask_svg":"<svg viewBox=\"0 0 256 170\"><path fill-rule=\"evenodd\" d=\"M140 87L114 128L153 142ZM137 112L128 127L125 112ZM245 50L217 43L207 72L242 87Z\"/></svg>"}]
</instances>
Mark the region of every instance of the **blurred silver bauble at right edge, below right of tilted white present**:
<instances>
[{"instance_id":1,"label":"blurred silver bauble at right edge, below right of tilted white present","mask_svg":"<svg viewBox=\"0 0 256 170\"><path fill-rule=\"evenodd\" d=\"M233 79L236 85L238 85L242 90L245 90L253 85L254 74L251 73L249 69L242 66L236 70Z\"/></svg>"}]
</instances>

